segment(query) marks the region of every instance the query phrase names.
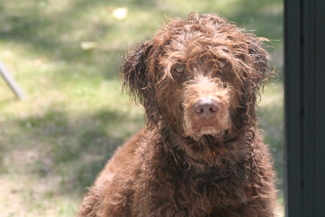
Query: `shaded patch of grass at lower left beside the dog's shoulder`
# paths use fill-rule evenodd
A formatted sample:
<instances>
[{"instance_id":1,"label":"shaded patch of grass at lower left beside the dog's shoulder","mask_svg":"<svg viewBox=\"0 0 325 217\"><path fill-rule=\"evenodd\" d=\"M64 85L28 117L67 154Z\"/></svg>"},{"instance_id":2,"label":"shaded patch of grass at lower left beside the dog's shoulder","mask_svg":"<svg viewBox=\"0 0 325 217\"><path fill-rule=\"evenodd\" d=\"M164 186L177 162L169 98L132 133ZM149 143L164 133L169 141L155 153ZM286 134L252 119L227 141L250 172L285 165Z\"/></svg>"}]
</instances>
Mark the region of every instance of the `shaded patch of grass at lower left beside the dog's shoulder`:
<instances>
[{"instance_id":1,"label":"shaded patch of grass at lower left beside the dog's shoulder","mask_svg":"<svg viewBox=\"0 0 325 217\"><path fill-rule=\"evenodd\" d=\"M48 111L1 123L1 167L37 179L58 180L61 194L84 193L116 147L142 125L140 117L100 111L89 117ZM5 164L7 162L7 165ZM9 163L8 163L9 162ZM2 170L2 172L6 172ZM52 186L54 187L54 186Z\"/></svg>"}]
</instances>

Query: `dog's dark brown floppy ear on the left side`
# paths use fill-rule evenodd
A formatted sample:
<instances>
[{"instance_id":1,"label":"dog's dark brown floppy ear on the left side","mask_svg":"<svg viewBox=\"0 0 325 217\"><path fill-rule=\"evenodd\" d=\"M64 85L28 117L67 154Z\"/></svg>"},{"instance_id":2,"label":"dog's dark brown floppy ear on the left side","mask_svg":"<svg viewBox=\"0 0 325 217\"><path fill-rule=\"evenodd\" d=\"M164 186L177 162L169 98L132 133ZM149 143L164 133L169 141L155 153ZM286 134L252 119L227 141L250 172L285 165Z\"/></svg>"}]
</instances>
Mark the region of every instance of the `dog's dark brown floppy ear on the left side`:
<instances>
[{"instance_id":1,"label":"dog's dark brown floppy ear on the left side","mask_svg":"<svg viewBox=\"0 0 325 217\"><path fill-rule=\"evenodd\" d=\"M123 89L128 90L136 103L144 106L149 124L157 124L159 120L159 106L152 79L154 56L153 41L146 41L128 51L120 68L120 75L124 79Z\"/></svg>"}]
</instances>

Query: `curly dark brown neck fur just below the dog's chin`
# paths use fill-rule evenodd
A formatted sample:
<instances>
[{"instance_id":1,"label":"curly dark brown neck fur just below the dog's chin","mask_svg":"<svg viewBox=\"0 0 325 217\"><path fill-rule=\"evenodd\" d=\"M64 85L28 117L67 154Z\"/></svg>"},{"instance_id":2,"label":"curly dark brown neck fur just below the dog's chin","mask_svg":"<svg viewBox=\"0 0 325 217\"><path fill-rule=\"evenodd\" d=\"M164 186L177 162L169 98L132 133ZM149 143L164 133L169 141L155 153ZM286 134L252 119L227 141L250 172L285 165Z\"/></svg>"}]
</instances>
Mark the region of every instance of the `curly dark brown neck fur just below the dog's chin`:
<instances>
[{"instance_id":1,"label":"curly dark brown neck fur just below the dog's chin","mask_svg":"<svg viewBox=\"0 0 325 217\"><path fill-rule=\"evenodd\" d=\"M202 172L211 166L221 166L223 158L231 158L231 152L237 149L234 146L241 146L245 150L243 153L249 152L255 137L253 126L239 132L226 130L218 135L203 135L198 138L179 136L182 135L181 132L162 122L155 130L159 131L160 144L163 144L160 148L165 154L173 156L176 163L187 163L188 167L196 167ZM232 160L235 162L239 159Z\"/></svg>"}]
</instances>

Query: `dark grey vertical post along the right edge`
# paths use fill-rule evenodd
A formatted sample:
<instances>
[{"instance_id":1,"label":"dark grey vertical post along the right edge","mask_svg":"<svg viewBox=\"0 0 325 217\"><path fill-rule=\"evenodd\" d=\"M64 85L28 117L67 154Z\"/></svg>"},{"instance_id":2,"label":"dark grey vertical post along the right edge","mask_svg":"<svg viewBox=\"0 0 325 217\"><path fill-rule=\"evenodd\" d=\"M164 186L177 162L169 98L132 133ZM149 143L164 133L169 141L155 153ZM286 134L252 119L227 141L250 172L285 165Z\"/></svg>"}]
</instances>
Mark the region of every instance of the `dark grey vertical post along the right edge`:
<instances>
[{"instance_id":1,"label":"dark grey vertical post along the right edge","mask_svg":"<svg viewBox=\"0 0 325 217\"><path fill-rule=\"evenodd\" d=\"M285 0L288 217L325 216L324 11L324 0Z\"/></svg>"}]
</instances>

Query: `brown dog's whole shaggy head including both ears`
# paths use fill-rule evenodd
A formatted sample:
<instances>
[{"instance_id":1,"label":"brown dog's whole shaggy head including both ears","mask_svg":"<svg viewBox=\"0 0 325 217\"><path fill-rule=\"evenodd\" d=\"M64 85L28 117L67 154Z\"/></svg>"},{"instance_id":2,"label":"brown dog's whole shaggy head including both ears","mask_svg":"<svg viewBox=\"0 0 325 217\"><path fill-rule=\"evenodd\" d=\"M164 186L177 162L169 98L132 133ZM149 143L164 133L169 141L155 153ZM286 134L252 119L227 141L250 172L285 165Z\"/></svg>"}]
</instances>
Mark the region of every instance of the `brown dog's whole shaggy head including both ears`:
<instances>
[{"instance_id":1,"label":"brown dog's whole shaggy head including both ears","mask_svg":"<svg viewBox=\"0 0 325 217\"><path fill-rule=\"evenodd\" d=\"M271 73L262 42L214 14L190 14L131 49L121 74L150 124L216 135L255 125L256 98Z\"/></svg>"}]
</instances>

